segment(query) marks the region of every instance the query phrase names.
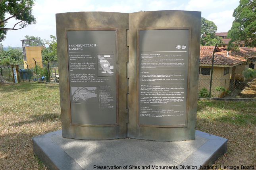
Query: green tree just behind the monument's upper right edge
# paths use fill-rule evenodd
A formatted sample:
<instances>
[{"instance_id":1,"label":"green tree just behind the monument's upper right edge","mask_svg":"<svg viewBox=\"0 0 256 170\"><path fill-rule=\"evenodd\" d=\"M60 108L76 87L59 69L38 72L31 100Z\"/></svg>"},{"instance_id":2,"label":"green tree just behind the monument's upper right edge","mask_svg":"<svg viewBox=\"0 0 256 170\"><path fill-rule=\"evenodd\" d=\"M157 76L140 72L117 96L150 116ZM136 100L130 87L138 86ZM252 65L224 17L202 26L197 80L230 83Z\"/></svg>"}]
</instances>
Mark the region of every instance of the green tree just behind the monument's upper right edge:
<instances>
[{"instance_id":1,"label":"green tree just behind the monument's upper right edge","mask_svg":"<svg viewBox=\"0 0 256 170\"><path fill-rule=\"evenodd\" d=\"M205 19L204 17L201 18L201 45L215 45L218 43L220 46L223 41L219 36L215 35L217 31L217 26L214 22Z\"/></svg>"}]
</instances>

